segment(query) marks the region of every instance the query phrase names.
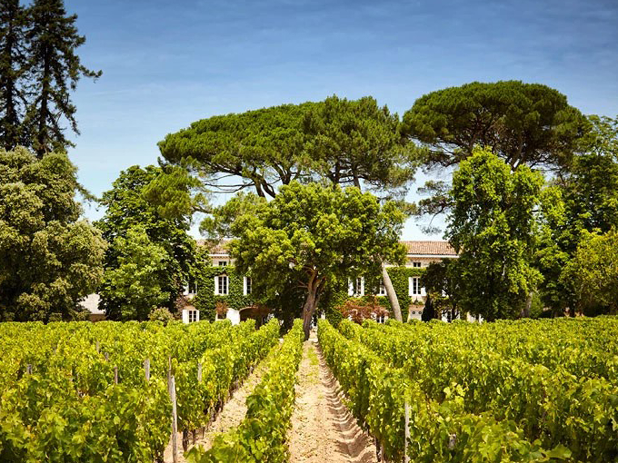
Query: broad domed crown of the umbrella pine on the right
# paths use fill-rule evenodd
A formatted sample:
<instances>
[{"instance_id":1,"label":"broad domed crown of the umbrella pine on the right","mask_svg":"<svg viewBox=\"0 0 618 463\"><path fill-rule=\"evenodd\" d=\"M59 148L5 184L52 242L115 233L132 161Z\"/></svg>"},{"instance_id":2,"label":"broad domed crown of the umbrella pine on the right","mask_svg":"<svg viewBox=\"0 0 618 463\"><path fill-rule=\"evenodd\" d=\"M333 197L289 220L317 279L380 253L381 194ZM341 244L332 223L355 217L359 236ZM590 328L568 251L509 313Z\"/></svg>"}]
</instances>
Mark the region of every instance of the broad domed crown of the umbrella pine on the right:
<instances>
[{"instance_id":1,"label":"broad domed crown of the umbrella pine on the right","mask_svg":"<svg viewBox=\"0 0 618 463\"><path fill-rule=\"evenodd\" d=\"M426 94L405 112L404 127L430 148L429 164L459 164L480 144L516 169L568 166L588 123L559 91L510 80Z\"/></svg>"}]
</instances>

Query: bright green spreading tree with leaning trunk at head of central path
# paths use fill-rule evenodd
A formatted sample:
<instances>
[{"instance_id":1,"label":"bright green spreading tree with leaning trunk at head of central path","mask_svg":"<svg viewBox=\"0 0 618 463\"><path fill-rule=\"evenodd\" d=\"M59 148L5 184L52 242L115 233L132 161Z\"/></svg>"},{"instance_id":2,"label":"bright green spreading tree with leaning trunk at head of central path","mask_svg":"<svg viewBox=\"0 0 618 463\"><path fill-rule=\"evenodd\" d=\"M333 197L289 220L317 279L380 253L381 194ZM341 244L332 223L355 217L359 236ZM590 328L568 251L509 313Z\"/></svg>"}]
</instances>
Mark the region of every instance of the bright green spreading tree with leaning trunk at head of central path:
<instances>
[{"instance_id":1,"label":"bright green spreading tree with leaning trunk at head of central path","mask_svg":"<svg viewBox=\"0 0 618 463\"><path fill-rule=\"evenodd\" d=\"M377 273L381 262L405 258L398 242L405 215L358 188L292 182L252 214L238 217L230 249L236 267L255 275L256 300L276 298L292 282L305 290L303 328L330 279Z\"/></svg>"}]
</instances>

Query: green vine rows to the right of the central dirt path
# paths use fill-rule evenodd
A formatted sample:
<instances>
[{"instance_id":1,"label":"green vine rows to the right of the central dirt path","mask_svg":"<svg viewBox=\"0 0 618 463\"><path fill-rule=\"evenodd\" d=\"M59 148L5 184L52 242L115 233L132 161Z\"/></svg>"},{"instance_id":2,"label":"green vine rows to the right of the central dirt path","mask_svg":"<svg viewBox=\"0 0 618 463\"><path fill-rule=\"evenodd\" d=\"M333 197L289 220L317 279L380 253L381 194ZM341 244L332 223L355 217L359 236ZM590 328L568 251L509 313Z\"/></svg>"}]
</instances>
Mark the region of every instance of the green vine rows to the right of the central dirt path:
<instances>
[{"instance_id":1,"label":"green vine rows to the right of the central dirt path","mask_svg":"<svg viewBox=\"0 0 618 463\"><path fill-rule=\"evenodd\" d=\"M412 461L613 461L617 322L344 320L339 334L320 320L318 338L387 458L407 402Z\"/></svg>"}]
</instances>

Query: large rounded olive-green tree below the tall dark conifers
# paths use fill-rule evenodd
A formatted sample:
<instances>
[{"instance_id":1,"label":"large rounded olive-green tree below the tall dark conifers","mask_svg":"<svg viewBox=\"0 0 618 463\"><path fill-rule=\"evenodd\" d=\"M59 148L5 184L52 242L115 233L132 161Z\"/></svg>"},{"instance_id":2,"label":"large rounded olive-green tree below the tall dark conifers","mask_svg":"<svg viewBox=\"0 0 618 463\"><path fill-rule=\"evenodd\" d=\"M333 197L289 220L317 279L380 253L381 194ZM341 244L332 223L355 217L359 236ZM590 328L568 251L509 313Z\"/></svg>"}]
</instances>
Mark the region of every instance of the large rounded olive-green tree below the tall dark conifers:
<instances>
[{"instance_id":1,"label":"large rounded olive-green tree below the tall dark conifers","mask_svg":"<svg viewBox=\"0 0 618 463\"><path fill-rule=\"evenodd\" d=\"M0 319L74 319L101 281L106 243L78 220L76 172L66 154L0 151Z\"/></svg>"}]
</instances>

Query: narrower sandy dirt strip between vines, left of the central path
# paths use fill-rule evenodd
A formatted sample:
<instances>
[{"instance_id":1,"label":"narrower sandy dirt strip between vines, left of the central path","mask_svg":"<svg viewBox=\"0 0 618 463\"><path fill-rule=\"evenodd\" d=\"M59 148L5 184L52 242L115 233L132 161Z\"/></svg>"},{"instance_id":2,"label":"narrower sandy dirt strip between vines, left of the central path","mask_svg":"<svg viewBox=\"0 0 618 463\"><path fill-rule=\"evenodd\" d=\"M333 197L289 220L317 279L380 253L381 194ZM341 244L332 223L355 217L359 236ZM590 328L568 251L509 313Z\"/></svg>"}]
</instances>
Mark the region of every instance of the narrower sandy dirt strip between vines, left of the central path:
<instances>
[{"instance_id":1,"label":"narrower sandy dirt strip between vines, left of the central path","mask_svg":"<svg viewBox=\"0 0 618 463\"><path fill-rule=\"evenodd\" d=\"M278 346L277 346L278 347ZM263 359L253 370L253 372L247 377L244 383L240 385L240 387L232 393L232 397L224 404L223 408L219 412L219 414L215 417L214 421L210 424L210 426L206 429L204 433L204 437L201 436L201 432L197 433L197 440L195 445L201 445L205 449L210 449L213 445L214 436L218 433L226 432L229 428L237 426L247 414L247 397L253 392L255 386L260 382L262 375L266 372L267 367L267 359L271 355L273 355L275 349L269 352L268 356ZM184 463L186 460L182 456L182 433L178 433L177 437L178 442L178 462ZM189 446L188 449L192 448L192 438L189 433ZM165 449L165 453L163 456L163 460L165 463L172 463L172 438L170 436L169 444L167 444L167 448Z\"/></svg>"}]
</instances>

